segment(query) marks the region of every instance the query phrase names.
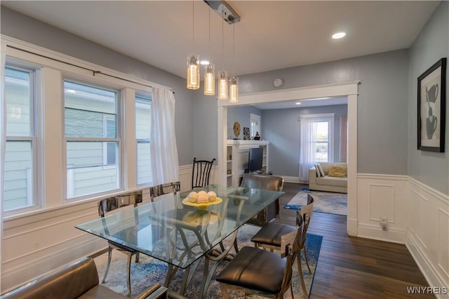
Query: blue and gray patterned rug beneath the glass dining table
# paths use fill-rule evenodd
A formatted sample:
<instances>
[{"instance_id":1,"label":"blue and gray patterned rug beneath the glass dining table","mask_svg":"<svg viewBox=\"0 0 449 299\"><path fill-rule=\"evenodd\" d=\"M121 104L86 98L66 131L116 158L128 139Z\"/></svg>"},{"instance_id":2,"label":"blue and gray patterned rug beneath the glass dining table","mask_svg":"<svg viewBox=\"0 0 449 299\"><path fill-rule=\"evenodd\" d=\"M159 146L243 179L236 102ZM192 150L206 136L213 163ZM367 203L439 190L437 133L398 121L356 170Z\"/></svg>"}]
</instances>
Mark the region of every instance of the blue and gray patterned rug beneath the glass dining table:
<instances>
[{"instance_id":1,"label":"blue and gray patterned rug beneath the glass dining table","mask_svg":"<svg viewBox=\"0 0 449 299\"><path fill-rule=\"evenodd\" d=\"M253 225L243 225L239 230L239 234L237 235L239 248L242 246L254 246L253 242L250 241L251 237L260 230L260 227L256 227ZM306 249L307 249L307 258L309 260L309 265L311 268L311 272L307 269L307 265L305 261L302 260L302 270L304 274L304 281L306 284L306 288L308 290L308 294L310 294L311 285L314 280L314 274L316 269L316 263L318 262L319 252L321 249L321 242L323 237L317 236L315 234L307 234L306 239ZM225 240L227 241L227 240ZM234 249L232 249L234 252ZM99 255L94 258L95 264L98 268L98 276L100 280L105 273L106 264L107 264L107 253ZM215 281L215 276L220 273L220 271L225 267L226 261L222 261L220 265L218 265L217 270L215 270L214 277L210 282L208 293L205 298L215 299L222 298L220 293L220 286ZM160 282L163 284L163 281L166 277L166 273L168 270L168 266L166 263L163 263L159 260L151 258L147 255L140 255L139 263L135 263L133 258L133 262L131 263L131 289L132 296L131 298L137 298L142 291L152 284L156 282ZM300 284L300 276L297 272L297 265L295 263L293 267L293 294L295 298L304 298L302 297L302 290ZM180 284L182 282L182 274L183 270L179 270L175 275L175 278L171 282L169 289L173 291L179 291ZM269 273L267 273L269 275ZM198 295L198 289L201 284L201 278L203 277L203 260L199 264L198 268L194 272L194 277L190 282L189 286L187 286L187 291L185 296L187 298L196 298ZM123 253L119 253L117 251L112 251L112 261L111 267L109 269L109 273L107 274L107 279L104 286L111 288L117 293L121 293L126 295L127 287L126 287L126 255ZM262 297L259 296L251 296L245 293L239 293L237 291L230 291L229 298L257 298L260 299ZM290 291L286 293L284 298L291 298Z\"/></svg>"}]
</instances>

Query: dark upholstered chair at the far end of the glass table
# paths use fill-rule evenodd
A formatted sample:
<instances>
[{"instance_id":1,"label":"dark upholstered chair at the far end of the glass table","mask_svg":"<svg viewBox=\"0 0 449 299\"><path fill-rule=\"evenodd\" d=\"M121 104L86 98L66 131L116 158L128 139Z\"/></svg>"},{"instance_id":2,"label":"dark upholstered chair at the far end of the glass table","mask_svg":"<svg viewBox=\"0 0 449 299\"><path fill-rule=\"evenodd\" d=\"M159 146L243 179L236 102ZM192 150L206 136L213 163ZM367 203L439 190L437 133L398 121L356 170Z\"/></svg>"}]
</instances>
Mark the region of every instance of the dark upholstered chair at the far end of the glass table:
<instances>
[{"instance_id":1,"label":"dark upholstered chair at the far end of the glass table","mask_svg":"<svg viewBox=\"0 0 449 299\"><path fill-rule=\"evenodd\" d=\"M283 178L276 175L262 175L254 173L245 173L241 181L241 187L282 191ZM267 222L272 221L279 216L279 199L276 199L272 204L260 211L254 218L250 219L248 223L262 226Z\"/></svg>"}]
</instances>

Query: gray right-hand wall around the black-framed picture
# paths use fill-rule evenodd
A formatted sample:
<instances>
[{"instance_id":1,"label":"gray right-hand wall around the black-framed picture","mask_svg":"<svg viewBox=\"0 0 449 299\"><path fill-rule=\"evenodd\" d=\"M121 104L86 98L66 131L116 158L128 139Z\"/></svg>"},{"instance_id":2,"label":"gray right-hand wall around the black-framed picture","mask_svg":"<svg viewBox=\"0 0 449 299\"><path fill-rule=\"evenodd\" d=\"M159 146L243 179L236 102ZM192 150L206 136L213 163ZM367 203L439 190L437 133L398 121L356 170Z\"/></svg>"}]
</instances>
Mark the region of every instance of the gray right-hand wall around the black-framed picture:
<instances>
[{"instance_id":1,"label":"gray right-hand wall around the black-framed picture","mask_svg":"<svg viewBox=\"0 0 449 299\"><path fill-rule=\"evenodd\" d=\"M446 69L445 152L417 150L417 77L441 58L449 58L449 2L442 1L410 48L408 96L408 175L449 194L449 72Z\"/></svg>"}]
</instances>

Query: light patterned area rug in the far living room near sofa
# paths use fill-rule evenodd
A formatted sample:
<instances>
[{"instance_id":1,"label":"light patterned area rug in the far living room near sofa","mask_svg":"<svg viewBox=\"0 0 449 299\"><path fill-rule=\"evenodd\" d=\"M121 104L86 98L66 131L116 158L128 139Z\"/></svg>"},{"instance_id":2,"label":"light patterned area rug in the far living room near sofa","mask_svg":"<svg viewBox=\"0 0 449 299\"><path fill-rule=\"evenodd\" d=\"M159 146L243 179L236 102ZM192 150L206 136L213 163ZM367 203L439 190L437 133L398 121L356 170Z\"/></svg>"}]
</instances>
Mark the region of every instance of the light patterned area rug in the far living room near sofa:
<instances>
[{"instance_id":1,"label":"light patterned area rug in the far living room near sofa","mask_svg":"<svg viewBox=\"0 0 449 299\"><path fill-rule=\"evenodd\" d=\"M347 215L347 194L311 191L307 188L297 192L295 197L283 207L291 210L300 210L302 205L307 204L307 194L311 194L314 197L314 212Z\"/></svg>"}]
</instances>

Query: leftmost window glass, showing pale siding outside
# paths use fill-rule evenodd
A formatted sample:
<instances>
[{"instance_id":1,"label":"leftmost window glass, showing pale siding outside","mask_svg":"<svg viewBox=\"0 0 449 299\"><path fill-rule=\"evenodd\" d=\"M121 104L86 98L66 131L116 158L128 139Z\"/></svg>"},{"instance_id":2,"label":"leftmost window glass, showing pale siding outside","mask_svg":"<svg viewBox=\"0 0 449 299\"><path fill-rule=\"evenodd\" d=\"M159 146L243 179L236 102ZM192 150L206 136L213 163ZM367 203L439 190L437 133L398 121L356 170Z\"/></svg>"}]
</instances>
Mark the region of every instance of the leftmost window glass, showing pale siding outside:
<instances>
[{"instance_id":1,"label":"leftmost window glass, showing pale siding outside","mask_svg":"<svg viewBox=\"0 0 449 299\"><path fill-rule=\"evenodd\" d=\"M6 65L4 211L36 203L34 78L34 69Z\"/></svg>"}]
</instances>

